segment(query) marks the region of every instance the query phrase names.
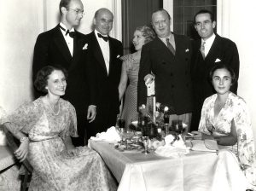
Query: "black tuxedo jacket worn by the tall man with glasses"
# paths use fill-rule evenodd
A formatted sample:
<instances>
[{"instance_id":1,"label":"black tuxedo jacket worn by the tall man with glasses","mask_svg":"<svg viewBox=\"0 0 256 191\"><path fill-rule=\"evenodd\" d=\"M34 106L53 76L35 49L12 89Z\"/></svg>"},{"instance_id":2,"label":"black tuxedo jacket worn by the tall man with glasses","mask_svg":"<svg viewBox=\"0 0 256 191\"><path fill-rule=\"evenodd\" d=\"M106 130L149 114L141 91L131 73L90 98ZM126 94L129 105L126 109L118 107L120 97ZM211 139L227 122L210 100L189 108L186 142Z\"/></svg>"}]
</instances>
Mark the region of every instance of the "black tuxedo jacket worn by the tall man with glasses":
<instances>
[{"instance_id":1,"label":"black tuxedo jacket worn by the tall man with glasses","mask_svg":"<svg viewBox=\"0 0 256 191\"><path fill-rule=\"evenodd\" d=\"M70 101L86 118L88 105L96 105L95 73L93 65L85 61L86 36L75 31L73 56L58 26L38 35L33 55L33 79L44 66L61 66L68 72L67 90L63 97ZM85 45L85 47L84 47Z\"/></svg>"}]
</instances>

